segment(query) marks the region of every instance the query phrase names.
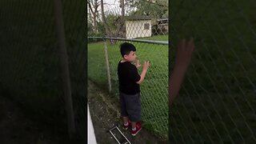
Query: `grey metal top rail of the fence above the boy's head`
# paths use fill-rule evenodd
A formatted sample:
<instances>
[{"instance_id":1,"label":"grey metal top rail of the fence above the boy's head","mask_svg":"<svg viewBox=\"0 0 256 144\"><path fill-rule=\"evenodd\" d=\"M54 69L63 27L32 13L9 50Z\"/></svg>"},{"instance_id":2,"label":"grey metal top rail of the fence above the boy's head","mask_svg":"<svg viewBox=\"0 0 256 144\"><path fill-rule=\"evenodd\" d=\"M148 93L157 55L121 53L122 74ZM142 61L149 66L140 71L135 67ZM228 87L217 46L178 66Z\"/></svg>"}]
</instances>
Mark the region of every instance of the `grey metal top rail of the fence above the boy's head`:
<instances>
[{"instance_id":1,"label":"grey metal top rail of the fence above the boy's head","mask_svg":"<svg viewBox=\"0 0 256 144\"><path fill-rule=\"evenodd\" d=\"M144 43L153 43L159 45L168 45L168 41L153 41L153 40L143 40L143 39L131 39L131 38L108 38L108 37L88 37L88 38L97 38L97 39L113 39L113 40L122 40L129 42L144 42Z\"/></svg>"}]
</instances>

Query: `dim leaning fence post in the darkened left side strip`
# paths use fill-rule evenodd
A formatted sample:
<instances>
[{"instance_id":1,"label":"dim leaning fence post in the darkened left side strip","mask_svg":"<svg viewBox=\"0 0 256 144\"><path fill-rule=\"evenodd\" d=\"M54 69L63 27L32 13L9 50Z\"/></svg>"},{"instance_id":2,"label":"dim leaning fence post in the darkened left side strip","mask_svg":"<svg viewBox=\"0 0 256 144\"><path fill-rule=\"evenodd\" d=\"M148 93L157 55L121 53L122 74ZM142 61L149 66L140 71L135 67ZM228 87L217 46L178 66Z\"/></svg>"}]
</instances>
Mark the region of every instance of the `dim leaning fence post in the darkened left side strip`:
<instances>
[{"instance_id":1,"label":"dim leaning fence post in the darkened left side strip","mask_svg":"<svg viewBox=\"0 0 256 144\"><path fill-rule=\"evenodd\" d=\"M59 57L62 70L62 84L64 90L64 100L66 105L66 117L68 122L68 130L70 139L74 138L75 127L74 127L74 110L71 96L70 87L70 70L69 63L66 54L66 43L65 43L65 30L62 15L62 2L61 0L54 0L54 10L56 18L56 26L58 32L58 47Z\"/></svg>"}]
</instances>

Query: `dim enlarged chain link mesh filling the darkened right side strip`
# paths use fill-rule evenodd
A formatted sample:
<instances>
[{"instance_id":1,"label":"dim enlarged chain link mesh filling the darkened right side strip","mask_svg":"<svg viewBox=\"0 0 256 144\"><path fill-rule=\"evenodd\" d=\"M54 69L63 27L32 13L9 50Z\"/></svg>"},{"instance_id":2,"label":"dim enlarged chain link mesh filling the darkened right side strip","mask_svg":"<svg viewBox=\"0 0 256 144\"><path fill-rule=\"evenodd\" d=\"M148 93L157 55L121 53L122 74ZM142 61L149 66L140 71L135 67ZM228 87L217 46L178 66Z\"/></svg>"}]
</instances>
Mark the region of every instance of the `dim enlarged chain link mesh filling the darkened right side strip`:
<instances>
[{"instance_id":1,"label":"dim enlarged chain link mesh filling the darkened right side strip","mask_svg":"<svg viewBox=\"0 0 256 144\"><path fill-rule=\"evenodd\" d=\"M255 143L254 1L182 0L170 4L171 58L178 39L196 50L170 108L171 143Z\"/></svg>"}]
</instances>

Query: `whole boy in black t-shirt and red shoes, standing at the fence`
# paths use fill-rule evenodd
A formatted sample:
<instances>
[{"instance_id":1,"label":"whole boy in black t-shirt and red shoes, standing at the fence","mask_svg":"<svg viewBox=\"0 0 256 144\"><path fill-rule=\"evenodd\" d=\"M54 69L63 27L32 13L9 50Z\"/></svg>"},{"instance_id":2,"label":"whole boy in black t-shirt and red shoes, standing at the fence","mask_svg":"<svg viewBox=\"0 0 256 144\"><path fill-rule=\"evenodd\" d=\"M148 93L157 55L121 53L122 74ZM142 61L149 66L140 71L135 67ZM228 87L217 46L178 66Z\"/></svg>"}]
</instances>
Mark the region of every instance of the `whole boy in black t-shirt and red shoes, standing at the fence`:
<instances>
[{"instance_id":1,"label":"whole boy in black t-shirt and red shoes, standing at the fence","mask_svg":"<svg viewBox=\"0 0 256 144\"><path fill-rule=\"evenodd\" d=\"M143 82L150 62L146 61L143 66L142 74L138 74L138 67L141 66L137 61L136 66L132 64L136 60L136 48L133 44L124 42L120 45L122 60L118 62L118 81L121 103L121 115L123 128L125 130L131 125L131 134L135 136L141 126L141 99L140 87Z\"/></svg>"}]
</instances>

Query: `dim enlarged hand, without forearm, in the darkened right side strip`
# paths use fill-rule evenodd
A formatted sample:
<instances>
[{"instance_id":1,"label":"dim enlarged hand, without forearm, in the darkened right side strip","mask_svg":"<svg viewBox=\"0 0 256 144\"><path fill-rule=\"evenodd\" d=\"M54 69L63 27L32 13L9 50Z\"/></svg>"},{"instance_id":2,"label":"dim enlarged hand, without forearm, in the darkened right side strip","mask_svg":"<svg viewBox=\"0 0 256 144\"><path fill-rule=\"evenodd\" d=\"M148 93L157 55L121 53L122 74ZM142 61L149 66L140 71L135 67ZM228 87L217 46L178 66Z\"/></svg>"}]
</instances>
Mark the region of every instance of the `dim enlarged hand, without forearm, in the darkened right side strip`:
<instances>
[{"instance_id":1,"label":"dim enlarged hand, without forearm, in the darkened right side strip","mask_svg":"<svg viewBox=\"0 0 256 144\"><path fill-rule=\"evenodd\" d=\"M190 38L189 42L186 42L185 39L178 44L177 57L175 61L175 67L182 68L186 70L189 66L192 53L194 51L194 39Z\"/></svg>"}]
</instances>

